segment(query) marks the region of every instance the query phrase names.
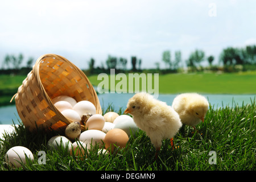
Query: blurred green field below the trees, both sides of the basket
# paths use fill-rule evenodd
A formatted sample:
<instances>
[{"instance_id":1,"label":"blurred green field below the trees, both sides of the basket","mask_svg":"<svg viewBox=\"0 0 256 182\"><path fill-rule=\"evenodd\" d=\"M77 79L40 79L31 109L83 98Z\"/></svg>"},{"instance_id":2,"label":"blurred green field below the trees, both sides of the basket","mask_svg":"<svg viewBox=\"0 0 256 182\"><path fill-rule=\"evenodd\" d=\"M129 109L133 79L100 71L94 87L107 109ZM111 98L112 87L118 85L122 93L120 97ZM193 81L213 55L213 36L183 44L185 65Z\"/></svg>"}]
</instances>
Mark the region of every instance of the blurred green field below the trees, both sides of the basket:
<instances>
[{"instance_id":1,"label":"blurred green field below the trees, both sides of the basket","mask_svg":"<svg viewBox=\"0 0 256 182\"><path fill-rule=\"evenodd\" d=\"M127 76L127 89L129 81ZM154 80L154 75L152 75ZM0 75L0 105L9 104L11 97L17 92L18 87L26 75ZM88 76L94 86L101 80L98 75ZM115 85L120 82L115 81ZM134 82L133 82L134 83ZM211 93L211 94L255 94L256 72L242 73L189 73L159 75L159 93L174 94L183 92ZM141 81L140 81L141 84ZM133 85L133 88L135 86ZM110 88L110 77L109 77ZM141 88L141 85L140 85ZM153 83L154 88L154 83ZM117 90L115 90L117 91ZM127 90L128 92L129 90Z\"/></svg>"}]
</instances>

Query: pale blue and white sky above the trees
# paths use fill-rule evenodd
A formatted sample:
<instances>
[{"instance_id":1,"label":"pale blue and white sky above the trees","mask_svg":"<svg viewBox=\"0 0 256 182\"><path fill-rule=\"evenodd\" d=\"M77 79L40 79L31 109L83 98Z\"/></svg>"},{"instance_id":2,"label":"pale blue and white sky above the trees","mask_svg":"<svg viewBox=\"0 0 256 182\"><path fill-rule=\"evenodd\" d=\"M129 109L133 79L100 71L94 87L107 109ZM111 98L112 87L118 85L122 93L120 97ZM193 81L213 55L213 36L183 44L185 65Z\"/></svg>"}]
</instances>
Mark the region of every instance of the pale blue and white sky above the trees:
<instances>
[{"instance_id":1,"label":"pale blue and white sky above the trees","mask_svg":"<svg viewBox=\"0 0 256 182\"><path fill-rule=\"evenodd\" d=\"M183 65L195 49L213 55L256 44L253 0L0 0L0 67L7 54L55 53L80 69L106 65L108 55L142 59L154 68L163 51L181 51ZM34 62L35 63L35 62Z\"/></svg>"}]
</instances>

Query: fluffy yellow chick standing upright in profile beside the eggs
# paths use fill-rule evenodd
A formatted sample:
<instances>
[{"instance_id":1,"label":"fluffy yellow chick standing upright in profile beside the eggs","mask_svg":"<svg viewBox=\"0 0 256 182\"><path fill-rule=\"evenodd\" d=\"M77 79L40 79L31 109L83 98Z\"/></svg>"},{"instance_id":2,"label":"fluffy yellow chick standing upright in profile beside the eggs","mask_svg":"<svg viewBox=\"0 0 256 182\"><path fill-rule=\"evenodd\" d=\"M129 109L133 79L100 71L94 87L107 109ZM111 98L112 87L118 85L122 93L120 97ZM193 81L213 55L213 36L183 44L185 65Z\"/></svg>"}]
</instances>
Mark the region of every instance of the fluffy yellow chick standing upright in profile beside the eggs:
<instances>
[{"instance_id":1,"label":"fluffy yellow chick standing upright in profile beside the eggs","mask_svg":"<svg viewBox=\"0 0 256 182\"><path fill-rule=\"evenodd\" d=\"M146 132L155 146L160 150L163 139L171 139L179 131L182 123L179 114L165 102L156 100L148 93L137 93L130 98L125 113L133 115L134 122L139 129Z\"/></svg>"}]
</instances>

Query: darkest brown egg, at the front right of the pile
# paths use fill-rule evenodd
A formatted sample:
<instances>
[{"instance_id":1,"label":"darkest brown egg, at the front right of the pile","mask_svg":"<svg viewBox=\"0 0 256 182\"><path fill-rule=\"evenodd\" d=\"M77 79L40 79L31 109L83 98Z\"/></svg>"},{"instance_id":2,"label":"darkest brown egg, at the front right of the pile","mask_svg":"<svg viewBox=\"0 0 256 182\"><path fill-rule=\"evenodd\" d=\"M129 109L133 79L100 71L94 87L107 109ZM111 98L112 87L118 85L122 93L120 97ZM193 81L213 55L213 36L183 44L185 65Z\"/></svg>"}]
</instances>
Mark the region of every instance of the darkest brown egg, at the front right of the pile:
<instances>
[{"instance_id":1,"label":"darkest brown egg, at the front right of the pile","mask_svg":"<svg viewBox=\"0 0 256 182\"><path fill-rule=\"evenodd\" d=\"M125 131L121 129L112 129L106 133L104 138L105 148L111 152L114 151L115 146L119 148L125 148L128 140L129 137Z\"/></svg>"}]
</instances>

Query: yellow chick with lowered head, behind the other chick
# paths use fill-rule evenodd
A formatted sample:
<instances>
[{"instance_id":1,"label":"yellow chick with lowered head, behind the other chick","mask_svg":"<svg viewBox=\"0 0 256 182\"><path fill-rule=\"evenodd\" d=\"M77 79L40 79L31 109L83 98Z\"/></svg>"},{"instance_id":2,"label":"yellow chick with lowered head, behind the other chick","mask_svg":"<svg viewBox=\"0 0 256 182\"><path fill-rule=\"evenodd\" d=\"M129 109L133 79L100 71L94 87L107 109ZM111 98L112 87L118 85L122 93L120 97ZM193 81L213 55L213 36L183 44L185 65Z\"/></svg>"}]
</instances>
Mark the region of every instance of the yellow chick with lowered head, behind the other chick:
<instances>
[{"instance_id":1,"label":"yellow chick with lowered head, behind the other chick","mask_svg":"<svg viewBox=\"0 0 256 182\"><path fill-rule=\"evenodd\" d=\"M174 98L172 107L180 115L183 125L192 126L196 130L195 126L204 122L209 102L200 94L183 93Z\"/></svg>"}]
</instances>

